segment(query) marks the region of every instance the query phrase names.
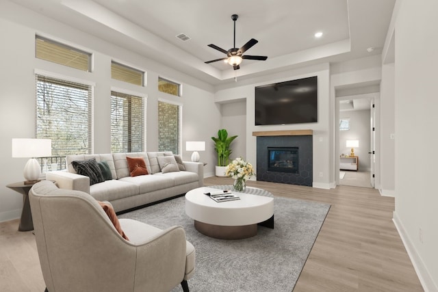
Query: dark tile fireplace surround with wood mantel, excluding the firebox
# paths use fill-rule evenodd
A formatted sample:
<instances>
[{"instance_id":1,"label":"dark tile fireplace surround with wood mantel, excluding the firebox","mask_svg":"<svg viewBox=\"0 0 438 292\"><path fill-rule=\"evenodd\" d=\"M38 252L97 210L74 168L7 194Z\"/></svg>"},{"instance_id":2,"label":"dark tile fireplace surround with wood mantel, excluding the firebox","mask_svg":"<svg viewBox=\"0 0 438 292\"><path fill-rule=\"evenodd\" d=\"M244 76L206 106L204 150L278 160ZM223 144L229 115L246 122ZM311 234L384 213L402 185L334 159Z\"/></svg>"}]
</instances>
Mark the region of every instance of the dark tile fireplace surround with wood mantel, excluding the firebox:
<instances>
[{"instance_id":1,"label":"dark tile fireplace surround with wood mantel, excluding the firebox","mask_svg":"<svg viewBox=\"0 0 438 292\"><path fill-rule=\"evenodd\" d=\"M260 131L253 136L257 136L257 181L312 186L313 131ZM298 174L268 171L268 147L298 147Z\"/></svg>"}]
</instances>

